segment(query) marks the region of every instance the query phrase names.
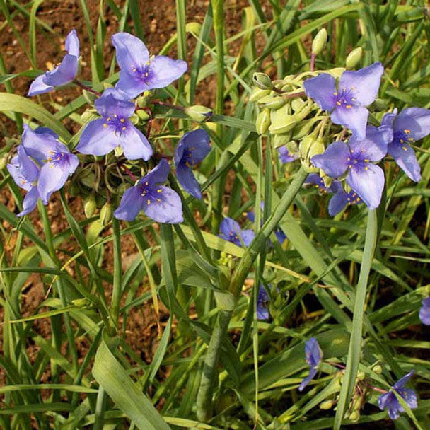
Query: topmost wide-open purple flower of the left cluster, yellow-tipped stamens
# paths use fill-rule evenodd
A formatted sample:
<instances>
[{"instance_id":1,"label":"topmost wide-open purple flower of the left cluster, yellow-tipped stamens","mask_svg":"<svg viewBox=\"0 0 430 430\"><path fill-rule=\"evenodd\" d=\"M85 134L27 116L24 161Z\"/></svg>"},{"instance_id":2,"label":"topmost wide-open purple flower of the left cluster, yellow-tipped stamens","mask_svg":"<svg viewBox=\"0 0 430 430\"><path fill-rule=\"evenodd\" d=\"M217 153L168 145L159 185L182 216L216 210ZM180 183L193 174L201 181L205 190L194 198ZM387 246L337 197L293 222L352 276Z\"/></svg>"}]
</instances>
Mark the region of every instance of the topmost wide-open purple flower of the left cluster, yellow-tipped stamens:
<instances>
[{"instance_id":1,"label":"topmost wide-open purple flower of the left cluster, yellow-tipped stamens","mask_svg":"<svg viewBox=\"0 0 430 430\"><path fill-rule=\"evenodd\" d=\"M116 88L130 98L153 88L164 88L187 71L187 63L180 59L150 56L144 42L129 33L113 35L112 43L121 69Z\"/></svg>"}]
</instances>

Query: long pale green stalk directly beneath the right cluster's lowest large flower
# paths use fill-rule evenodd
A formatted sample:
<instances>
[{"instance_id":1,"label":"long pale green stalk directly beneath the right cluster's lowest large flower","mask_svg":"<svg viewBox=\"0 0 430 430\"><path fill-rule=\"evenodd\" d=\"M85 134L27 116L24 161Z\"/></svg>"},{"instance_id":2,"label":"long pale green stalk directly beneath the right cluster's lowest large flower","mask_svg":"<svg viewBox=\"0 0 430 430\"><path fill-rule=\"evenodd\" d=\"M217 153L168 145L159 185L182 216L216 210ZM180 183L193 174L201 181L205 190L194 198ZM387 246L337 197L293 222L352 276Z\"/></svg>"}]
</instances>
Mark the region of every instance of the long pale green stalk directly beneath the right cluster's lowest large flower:
<instances>
[{"instance_id":1,"label":"long pale green stalk directly beneath the right cluster's lowest large flower","mask_svg":"<svg viewBox=\"0 0 430 430\"><path fill-rule=\"evenodd\" d=\"M364 305L366 302L366 289L368 275L371 271L373 254L375 253L376 242L378 240L378 219L376 211L368 211L368 220L366 228L366 240L364 242L363 260L361 260L361 268L359 282L357 284L356 297L354 303L354 318L352 320L351 337L349 340L349 350L347 367L342 383L342 388L339 393L339 402L337 403L334 430L339 430L342 425L342 419L345 414L345 409L351 400L352 391L355 386L357 371L359 370L361 343L363 341L363 324L364 324Z\"/></svg>"}]
</instances>

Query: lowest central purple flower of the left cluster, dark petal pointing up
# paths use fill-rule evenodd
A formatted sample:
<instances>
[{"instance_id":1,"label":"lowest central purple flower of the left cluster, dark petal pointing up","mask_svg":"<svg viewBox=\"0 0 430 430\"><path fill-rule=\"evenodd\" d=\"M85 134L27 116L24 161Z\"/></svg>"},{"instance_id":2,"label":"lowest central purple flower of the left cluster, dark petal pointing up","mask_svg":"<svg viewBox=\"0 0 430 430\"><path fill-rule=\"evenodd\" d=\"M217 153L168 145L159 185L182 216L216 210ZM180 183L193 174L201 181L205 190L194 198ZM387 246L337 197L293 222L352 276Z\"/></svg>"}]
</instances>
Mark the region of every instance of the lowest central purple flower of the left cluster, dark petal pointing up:
<instances>
[{"instance_id":1,"label":"lowest central purple flower of the left cluster, dark petal pointing up","mask_svg":"<svg viewBox=\"0 0 430 430\"><path fill-rule=\"evenodd\" d=\"M120 206L114 212L117 219L133 221L140 211L159 223L182 223L180 197L162 184L167 180L170 167L163 158L160 163L130 187L122 196Z\"/></svg>"}]
</instances>

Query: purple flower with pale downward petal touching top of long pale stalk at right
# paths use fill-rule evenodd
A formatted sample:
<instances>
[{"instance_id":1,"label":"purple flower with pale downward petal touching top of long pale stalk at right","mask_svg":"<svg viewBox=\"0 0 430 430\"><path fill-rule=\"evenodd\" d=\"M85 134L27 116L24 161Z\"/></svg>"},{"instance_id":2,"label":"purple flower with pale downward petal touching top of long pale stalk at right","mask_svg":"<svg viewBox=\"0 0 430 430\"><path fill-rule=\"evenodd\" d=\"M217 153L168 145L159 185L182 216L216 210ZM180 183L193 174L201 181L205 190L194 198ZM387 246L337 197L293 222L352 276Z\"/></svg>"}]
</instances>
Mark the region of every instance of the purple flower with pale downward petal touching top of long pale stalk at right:
<instances>
[{"instance_id":1,"label":"purple flower with pale downward petal touching top of long pale stalk at right","mask_svg":"<svg viewBox=\"0 0 430 430\"><path fill-rule=\"evenodd\" d=\"M373 163L385 156L391 139L393 132L389 127L368 127L366 139L359 140L352 135L347 144L342 141L332 143L324 153L313 156L312 163L331 178L346 175L349 187L369 209L376 209L385 179L383 170Z\"/></svg>"}]
</instances>

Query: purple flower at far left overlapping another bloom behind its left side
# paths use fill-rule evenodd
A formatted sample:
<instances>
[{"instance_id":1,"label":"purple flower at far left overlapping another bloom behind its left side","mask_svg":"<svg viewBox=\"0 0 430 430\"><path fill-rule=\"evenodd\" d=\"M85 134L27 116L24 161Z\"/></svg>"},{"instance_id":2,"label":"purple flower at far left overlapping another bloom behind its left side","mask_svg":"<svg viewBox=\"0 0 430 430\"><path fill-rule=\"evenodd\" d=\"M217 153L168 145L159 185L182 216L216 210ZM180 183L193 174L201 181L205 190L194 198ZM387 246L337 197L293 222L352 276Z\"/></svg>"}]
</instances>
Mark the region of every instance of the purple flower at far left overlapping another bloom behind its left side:
<instances>
[{"instance_id":1,"label":"purple flower at far left overlapping another bloom behind its left side","mask_svg":"<svg viewBox=\"0 0 430 430\"><path fill-rule=\"evenodd\" d=\"M24 126L22 146L28 156L42 166L37 191L43 204L47 204L54 191L60 190L69 175L79 165L79 159L58 140L57 134L45 127L32 130Z\"/></svg>"}]
</instances>

